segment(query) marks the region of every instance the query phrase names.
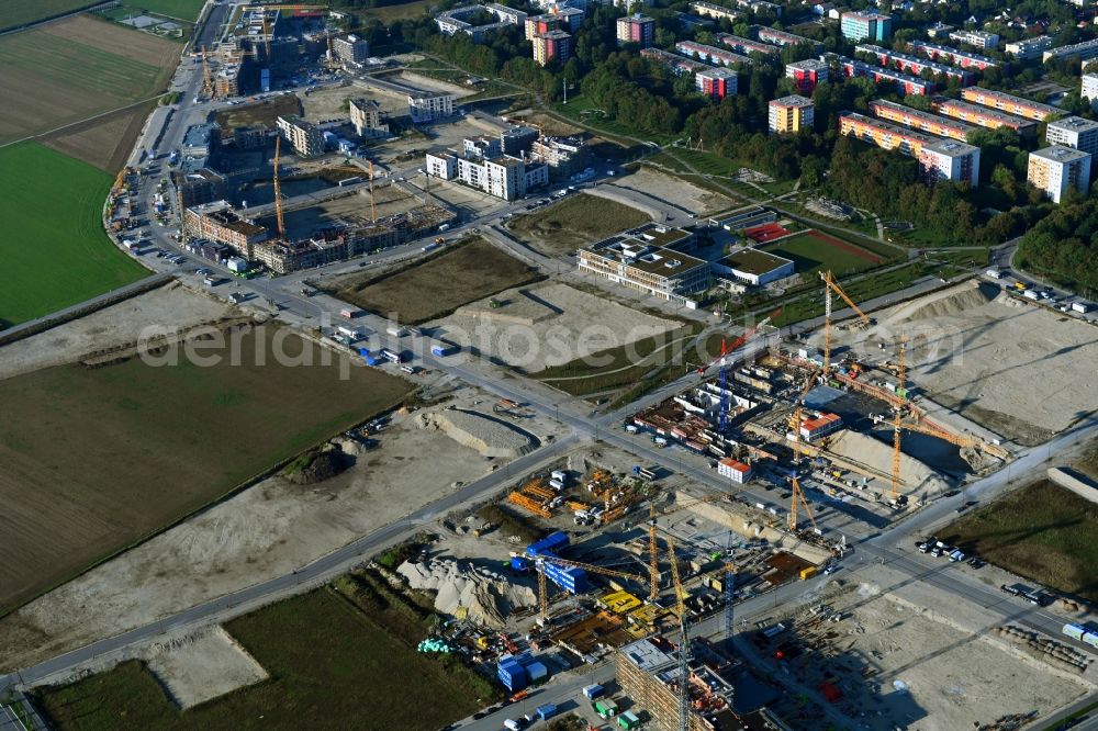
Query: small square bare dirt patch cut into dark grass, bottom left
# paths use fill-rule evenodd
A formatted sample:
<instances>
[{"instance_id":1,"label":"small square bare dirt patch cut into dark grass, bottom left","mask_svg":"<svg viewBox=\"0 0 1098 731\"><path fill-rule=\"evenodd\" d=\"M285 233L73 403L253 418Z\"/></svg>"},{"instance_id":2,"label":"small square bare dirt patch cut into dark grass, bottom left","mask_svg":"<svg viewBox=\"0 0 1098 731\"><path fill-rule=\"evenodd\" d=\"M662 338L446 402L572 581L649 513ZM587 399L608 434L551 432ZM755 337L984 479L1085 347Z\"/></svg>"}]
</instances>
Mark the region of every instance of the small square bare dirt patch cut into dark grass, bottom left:
<instances>
[{"instance_id":1,"label":"small square bare dirt patch cut into dark grass, bottom left","mask_svg":"<svg viewBox=\"0 0 1098 731\"><path fill-rule=\"evenodd\" d=\"M154 654L148 667L180 708L267 679L267 671L221 627Z\"/></svg>"}]
</instances>

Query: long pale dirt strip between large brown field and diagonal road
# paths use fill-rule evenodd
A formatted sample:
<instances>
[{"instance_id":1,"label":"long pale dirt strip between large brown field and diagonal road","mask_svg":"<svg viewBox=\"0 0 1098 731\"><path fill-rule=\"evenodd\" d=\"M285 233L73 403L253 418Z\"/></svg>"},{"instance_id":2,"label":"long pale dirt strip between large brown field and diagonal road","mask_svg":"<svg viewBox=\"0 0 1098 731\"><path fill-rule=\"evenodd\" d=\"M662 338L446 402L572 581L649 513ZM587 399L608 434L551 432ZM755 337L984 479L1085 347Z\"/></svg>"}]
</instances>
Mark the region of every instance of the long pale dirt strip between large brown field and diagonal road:
<instances>
[{"instance_id":1,"label":"long pale dirt strip between large brown field and diagonal road","mask_svg":"<svg viewBox=\"0 0 1098 731\"><path fill-rule=\"evenodd\" d=\"M493 403L462 389L437 408L491 413ZM417 417L394 416L343 474L313 486L265 480L0 619L3 667L289 574L493 469L494 460L442 431L417 428ZM541 418L518 426L542 440L554 429Z\"/></svg>"}]
</instances>

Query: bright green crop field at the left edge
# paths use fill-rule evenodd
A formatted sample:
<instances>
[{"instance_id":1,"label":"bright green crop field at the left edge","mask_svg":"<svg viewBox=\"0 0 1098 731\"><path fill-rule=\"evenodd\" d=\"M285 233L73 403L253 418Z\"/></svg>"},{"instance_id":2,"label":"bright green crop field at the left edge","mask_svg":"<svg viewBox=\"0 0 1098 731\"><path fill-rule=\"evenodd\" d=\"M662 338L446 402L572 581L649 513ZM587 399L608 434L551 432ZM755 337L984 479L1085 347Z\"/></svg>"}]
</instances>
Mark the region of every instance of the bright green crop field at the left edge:
<instances>
[{"instance_id":1,"label":"bright green crop field at the left edge","mask_svg":"<svg viewBox=\"0 0 1098 731\"><path fill-rule=\"evenodd\" d=\"M37 143L0 148L0 325L83 302L149 272L103 233L111 177Z\"/></svg>"}]
</instances>

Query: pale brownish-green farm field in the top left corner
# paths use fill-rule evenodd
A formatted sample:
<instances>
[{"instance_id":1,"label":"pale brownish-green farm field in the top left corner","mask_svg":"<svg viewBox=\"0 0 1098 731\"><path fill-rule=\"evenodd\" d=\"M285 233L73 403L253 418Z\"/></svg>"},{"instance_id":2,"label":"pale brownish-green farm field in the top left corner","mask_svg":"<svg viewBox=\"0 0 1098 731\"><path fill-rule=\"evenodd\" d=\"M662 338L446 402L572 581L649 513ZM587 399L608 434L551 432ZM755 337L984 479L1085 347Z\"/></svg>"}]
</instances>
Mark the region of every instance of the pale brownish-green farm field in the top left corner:
<instances>
[{"instance_id":1,"label":"pale brownish-green farm field in the top left corner","mask_svg":"<svg viewBox=\"0 0 1098 731\"><path fill-rule=\"evenodd\" d=\"M0 37L0 144L155 97L179 53L178 43L88 15Z\"/></svg>"}]
</instances>

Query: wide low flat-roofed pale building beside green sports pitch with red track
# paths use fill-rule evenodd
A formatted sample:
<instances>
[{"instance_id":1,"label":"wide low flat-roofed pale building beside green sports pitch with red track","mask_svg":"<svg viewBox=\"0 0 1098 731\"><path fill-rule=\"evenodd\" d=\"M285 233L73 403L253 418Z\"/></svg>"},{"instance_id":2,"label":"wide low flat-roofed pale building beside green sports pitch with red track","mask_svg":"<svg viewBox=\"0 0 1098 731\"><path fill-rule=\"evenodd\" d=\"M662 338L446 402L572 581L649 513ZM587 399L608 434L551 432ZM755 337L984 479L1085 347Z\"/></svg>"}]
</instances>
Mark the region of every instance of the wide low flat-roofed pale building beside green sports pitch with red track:
<instances>
[{"instance_id":1,"label":"wide low flat-roofed pale building beside green sports pitch with red track","mask_svg":"<svg viewBox=\"0 0 1098 731\"><path fill-rule=\"evenodd\" d=\"M679 304L704 290L709 265L680 248L693 234L660 224L645 224L580 249L580 271L596 274L621 286Z\"/></svg>"}]
</instances>

